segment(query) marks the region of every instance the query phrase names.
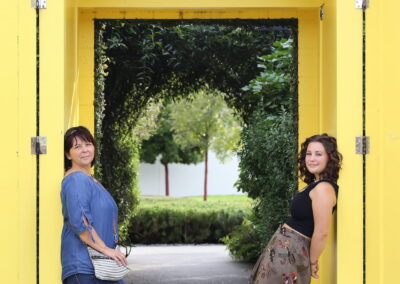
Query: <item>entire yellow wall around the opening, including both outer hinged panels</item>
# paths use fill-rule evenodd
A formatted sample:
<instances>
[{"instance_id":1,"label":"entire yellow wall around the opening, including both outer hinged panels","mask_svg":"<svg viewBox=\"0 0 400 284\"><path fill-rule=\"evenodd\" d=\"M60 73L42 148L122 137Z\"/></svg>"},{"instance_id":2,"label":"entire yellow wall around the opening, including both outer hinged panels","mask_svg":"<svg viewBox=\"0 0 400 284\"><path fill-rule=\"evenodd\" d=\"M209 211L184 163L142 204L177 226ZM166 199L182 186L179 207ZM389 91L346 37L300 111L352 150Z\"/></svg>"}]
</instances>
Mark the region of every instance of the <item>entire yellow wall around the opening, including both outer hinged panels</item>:
<instances>
[{"instance_id":1,"label":"entire yellow wall around the opening, including both outer hinged panels","mask_svg":"<svg viewBox=\"0 0 400 284\"><path fill-rule=\"evenodd\" d=\"M29 2L29 1L28 1ZM40 134L48 154L40 157L40 283L60 283L59 201L63 132L85 124L93 129L94 18L290 18L299 19L299 140L316 132L336 135L344 164L335 234L321 260L322 279L313 283L362 282L362 157L355 154L361 129L361 15L354 1L327 0L320 21L316 0L58 0L48 1L40 22ZM372 1L367 10L367 283L395 281L397 165L396 7ZM201 12L201 13L199 13ZM3 281L36 278L35 10L11 1L0 11L3 66L0 70L0 236ZM335 226L332 226L335 232ZM335 255L337 255L337 263ZM337 270L335 268L337 264ZM52 269L48 269L52 267ZM4 278L5 277L5 278ZM396 278L397 279L397 278Z\"/></svg>"}]
</instances>

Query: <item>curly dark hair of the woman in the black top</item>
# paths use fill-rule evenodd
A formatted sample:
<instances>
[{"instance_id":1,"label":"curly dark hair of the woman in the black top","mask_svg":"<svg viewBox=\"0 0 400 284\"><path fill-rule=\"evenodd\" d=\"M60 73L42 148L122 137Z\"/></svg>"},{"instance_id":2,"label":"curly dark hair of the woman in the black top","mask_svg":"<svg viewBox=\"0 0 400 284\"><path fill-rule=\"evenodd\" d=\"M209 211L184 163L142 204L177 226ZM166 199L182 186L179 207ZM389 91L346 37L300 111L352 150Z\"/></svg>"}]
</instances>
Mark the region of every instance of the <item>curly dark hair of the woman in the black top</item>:
<instances>
[{"instance_id":1,"label":"curly dark hair of the woman in the black top","mask_svg":"<svg viewBox=\"0 0 400 284\"><path fill-rule=\"evenodd\" d=\"M337 150L336 138L326 133L308 137L306 141L301 144L301 150L297 157L300 178L307 184L315 180L315 176L310 173L306 167L306 153L308 145L311 142L321 143L328 154L328 163L325 170L321 173L321 178L336 183L339 178L339 170L342 165L343 156Z\"/></svg>"}]
</instances>

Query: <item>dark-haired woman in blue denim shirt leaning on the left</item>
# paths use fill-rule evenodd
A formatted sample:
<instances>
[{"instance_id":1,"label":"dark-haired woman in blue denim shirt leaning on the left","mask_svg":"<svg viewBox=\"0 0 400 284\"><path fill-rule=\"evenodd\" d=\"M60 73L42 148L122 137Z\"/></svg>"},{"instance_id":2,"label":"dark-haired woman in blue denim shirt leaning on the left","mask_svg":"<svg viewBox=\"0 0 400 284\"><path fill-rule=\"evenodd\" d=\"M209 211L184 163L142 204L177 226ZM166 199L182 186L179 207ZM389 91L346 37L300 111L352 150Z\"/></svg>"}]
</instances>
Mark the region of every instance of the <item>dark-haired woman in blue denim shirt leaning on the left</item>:
<instances>
[{"instance_id":1,"label":"dark-haired woman in blue denim shirt leaning on the left","mask_svg":"<svg viewBox=\"0 0 400 284\"><path fill-rule=\"evenodd\" d=\"M94 275L87 246L127 265L115 249L118 240L118 208L110 193L91 174L96 143L83 126L70 128L64 137L65 176L61 201L64 226L61 236L64 284L118 283Z\"/></svg>"}]
</instances>

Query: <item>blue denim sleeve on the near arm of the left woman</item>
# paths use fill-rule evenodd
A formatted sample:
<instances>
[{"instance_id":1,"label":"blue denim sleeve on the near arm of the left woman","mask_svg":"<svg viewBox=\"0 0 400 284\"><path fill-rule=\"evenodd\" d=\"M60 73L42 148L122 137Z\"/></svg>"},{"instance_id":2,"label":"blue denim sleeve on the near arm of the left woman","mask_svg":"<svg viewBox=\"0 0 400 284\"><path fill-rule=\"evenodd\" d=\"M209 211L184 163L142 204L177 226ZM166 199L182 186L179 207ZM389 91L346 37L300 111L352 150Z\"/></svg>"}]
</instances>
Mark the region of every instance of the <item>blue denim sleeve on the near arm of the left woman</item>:
<instances>
[{"instance_id":1,"label":"blue denim sleeve on the near arm of the left woman","mask_svg":"<svg viewBox=\"0 0 400 284\"><path fill-rule=\"evenodd\" d=\"M61 190L63 214L68 227L77 235L89 230L93 223L90 210L92 186L84 173L73 173L64 180ZM89 225L84 223L87 218Z\"/></svg>"}]
</instances>

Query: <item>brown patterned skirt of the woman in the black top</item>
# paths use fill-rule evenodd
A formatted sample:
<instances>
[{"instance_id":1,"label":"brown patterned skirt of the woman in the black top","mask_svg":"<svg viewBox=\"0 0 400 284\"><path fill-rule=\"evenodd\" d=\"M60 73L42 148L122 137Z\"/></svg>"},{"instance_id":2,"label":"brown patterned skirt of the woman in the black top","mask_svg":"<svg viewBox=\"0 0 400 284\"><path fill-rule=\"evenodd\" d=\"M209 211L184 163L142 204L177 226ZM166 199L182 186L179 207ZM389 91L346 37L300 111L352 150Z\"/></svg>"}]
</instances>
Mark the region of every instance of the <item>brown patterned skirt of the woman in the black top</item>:
<instances>
[{"instance_id":1,"label":"brown patterned skirt of the woman in the black top","mask_svg":"<svg viewBox=\"0 0 400 284\"><path fill-rule=\"evenodd\" d=\"M309 284L310 242L279 226L255 264L249 284Z\"/></svg>"}]
</instances>

